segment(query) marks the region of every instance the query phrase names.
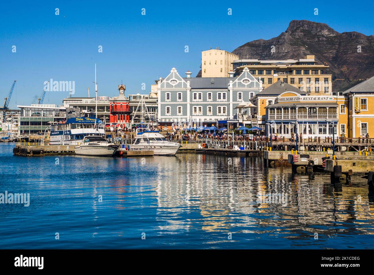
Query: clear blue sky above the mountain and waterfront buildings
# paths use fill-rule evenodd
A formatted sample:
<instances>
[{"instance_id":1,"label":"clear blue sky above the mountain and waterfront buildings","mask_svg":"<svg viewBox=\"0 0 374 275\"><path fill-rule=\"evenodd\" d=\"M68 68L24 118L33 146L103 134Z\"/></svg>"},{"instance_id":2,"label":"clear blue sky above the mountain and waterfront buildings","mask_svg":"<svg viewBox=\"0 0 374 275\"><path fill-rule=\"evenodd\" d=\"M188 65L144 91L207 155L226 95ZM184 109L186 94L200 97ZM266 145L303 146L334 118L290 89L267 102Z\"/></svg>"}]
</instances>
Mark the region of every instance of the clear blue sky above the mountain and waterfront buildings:
<instances>
[{"instance_id":1,"label":"clear blue sky above the mountain and waterfront buildings","mask_svg":"<svg viewBox=\"0 0 374 275\"><path fill-rule=\"evenodd\" d=\"M16 79L9 107L36 103L43 82L51 78L75 81L74 96L86 96L87 87L94 95L95 62L98 95L117 95L121 80L127 94L148 93L154 80L166 77L172 67L182 76L187 70L195 76L202 50L219 46L232 51L255 39L276 37L293 19L323 22L338 32L374 34L372 1L332 2L3 1L0 96L6 97ZM68 92L47 92L44 103L60 105L64 97Z\"/></svg>"}]
</instances>

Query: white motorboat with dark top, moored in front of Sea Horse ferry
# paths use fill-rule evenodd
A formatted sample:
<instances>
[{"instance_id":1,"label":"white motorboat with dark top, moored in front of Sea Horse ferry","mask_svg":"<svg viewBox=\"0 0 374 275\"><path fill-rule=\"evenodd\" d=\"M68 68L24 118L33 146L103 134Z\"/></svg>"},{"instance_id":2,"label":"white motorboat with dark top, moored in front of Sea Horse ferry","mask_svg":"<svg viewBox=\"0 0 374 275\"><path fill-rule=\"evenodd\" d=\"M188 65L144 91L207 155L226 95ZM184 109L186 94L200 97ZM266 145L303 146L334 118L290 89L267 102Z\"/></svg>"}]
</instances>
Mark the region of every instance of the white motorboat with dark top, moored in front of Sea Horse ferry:
<instances>
[{"instance_id":1,"label":"white motorboat with dark top, moored in front of Sea Horse ferry","mask_svg":"<svg viewBox=\"0 0 374 275\"><path fill-rule=\"evenodd\" d=\"M89 135L83 138L82 144L74 147L76 155L113 156L118 145L105 140L101 135Z\"/></svg>"}]
</instances>

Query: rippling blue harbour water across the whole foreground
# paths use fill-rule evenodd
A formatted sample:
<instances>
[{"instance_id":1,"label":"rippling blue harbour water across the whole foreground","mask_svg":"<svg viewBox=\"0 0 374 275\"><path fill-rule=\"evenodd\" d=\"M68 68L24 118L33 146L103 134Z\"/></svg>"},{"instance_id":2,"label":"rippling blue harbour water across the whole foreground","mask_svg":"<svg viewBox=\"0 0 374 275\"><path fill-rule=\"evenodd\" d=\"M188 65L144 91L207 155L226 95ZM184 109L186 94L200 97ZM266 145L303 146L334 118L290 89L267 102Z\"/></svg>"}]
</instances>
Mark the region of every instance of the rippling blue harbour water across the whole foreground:
<instances>
[{"instance_id":1,"label":"rippling blue harbour water across the whole foreground","mask_svg":"<svg viewBox=\"0 0 374 275\"><path fill-rule=\"evenodd\" d=\"M30 206L0 204L1 248L374 248L362 174L334 187L258 157L22 157L14 145L0 144L0 193L30 193Z\"/></svg>"}]
</instances>

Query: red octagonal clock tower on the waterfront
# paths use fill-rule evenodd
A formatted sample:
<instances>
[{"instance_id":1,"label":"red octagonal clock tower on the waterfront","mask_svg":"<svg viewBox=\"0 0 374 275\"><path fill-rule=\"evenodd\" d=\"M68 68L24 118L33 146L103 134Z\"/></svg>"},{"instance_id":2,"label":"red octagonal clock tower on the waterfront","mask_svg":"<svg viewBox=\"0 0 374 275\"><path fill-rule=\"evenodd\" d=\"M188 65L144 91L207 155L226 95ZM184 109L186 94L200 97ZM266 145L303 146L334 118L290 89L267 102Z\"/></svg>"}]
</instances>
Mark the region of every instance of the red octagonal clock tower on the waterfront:
<instances>
[{"instance_id":1,"label":"red octagonal clock tower on the waterfront","mask_svg":"<svg viewBox=\"0 0 374 275\"><path fill-rule=\"evenodd\" d=\"M112 97L110 103L110 124L119 125L122 129L130 124L130 101L125 97L126 86L118 85L119 96Z\"/></svg>"}]
</instances>

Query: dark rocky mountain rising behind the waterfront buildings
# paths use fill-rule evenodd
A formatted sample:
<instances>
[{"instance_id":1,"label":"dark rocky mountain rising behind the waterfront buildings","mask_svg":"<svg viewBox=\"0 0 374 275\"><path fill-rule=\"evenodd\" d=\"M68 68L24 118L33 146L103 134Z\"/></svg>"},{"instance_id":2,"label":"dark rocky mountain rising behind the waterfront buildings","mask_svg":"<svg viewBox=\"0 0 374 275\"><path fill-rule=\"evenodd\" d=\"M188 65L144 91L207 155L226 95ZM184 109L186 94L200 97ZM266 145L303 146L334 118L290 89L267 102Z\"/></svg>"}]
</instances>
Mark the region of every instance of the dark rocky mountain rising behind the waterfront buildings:
<instances>
[{"instance_id":1,"label":"dark rocky mountain rising behind the waterfront buildings","mask_svg":"<svg viewBox=\"0 0 374 275\"><path fill-rule=\"evenodd\" d=\"M270 51L273 45L275 53ZM245 43L233 53L239 59L299 59L315 55L320 64L329 65L325 71L332 74L334 91L345 91L374 75L373 35L338 33L327 24L307 20L292 20L279 36Z\"/></svg>"}]
</instances>

